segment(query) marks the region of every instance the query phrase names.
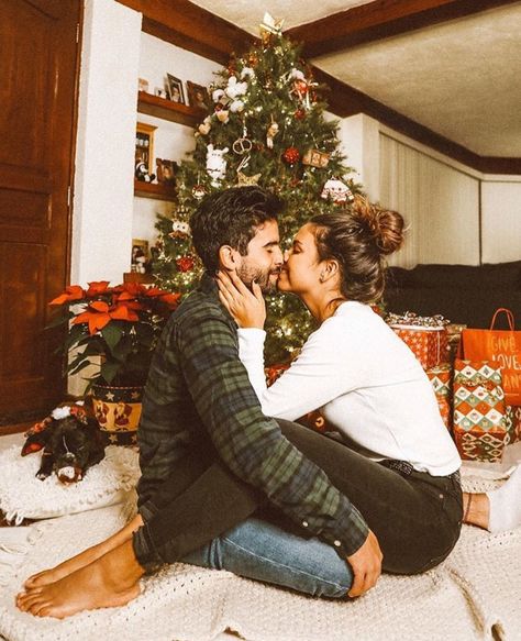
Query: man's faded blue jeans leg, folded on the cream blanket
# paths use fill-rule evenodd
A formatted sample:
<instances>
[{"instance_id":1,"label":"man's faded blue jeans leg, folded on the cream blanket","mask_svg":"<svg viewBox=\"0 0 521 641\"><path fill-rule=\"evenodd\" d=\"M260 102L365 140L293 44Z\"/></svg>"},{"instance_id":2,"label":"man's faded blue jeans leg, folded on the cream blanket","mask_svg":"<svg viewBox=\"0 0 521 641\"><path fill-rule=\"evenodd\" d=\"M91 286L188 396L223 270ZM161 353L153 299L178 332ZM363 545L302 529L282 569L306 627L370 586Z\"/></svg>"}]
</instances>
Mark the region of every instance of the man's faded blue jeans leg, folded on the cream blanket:
<instances>
[{"instance_id":1,"label":"man's faded blue jeans leg, folded on the cream blanket","mask_svg":"<svg viewBox=\"0 0 521 641\"><path fill-rule=\"evenodd\" d=\"M320 597L345 598L353 582L351 566L330 545L254 517L191 552L182 563L229 570Z\"/></svg>"}]
</instances>

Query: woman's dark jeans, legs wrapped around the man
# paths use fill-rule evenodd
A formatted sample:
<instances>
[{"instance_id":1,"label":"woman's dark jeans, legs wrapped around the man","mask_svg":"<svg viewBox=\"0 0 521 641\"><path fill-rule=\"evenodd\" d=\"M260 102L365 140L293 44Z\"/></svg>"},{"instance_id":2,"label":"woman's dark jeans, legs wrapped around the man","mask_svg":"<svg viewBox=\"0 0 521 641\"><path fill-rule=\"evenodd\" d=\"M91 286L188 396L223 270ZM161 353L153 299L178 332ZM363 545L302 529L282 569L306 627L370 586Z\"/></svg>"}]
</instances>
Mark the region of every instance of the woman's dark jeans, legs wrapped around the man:
<instances>
[{"instance_id":1,"label":"woman's dark jeans, legs wrapped around the man","mask_svg":"<svg viewBox=\"0 0 521 641\"><path fill-rule=\"evenodd\" d=\"M278 420L278 423L282 434L319 465L331 483L362 512L378 539L386 572L424 572L450 554L459 537L463 518L462 490L456 476L433 477L411 472L407 464L399 469L389 468L302 426L284 420ZM239 479L217 457L211 458L203 460L199 452L180 461L171 476L158 487L147 508L140 509L145 524L134 534L133 546L145 570L187 557L223 532L257 516L258 508L266 505L266 498L258 489ZM265 519L263 515L263 520L276 526L282 523L284 530L288 530L284 519ZM298 526L292 526L296 528ZM297 534L303 543L309 542L304 528L297 530ZM252 537L250 532L248 537L248 545L258 541L256 534ZM336 554L334 550L333 554ZM213 561L204 564L215 563L215 553L211 555ZM230 556L233 555L229 549L226 554L221 554L224 566L231 570L228 564L235 561L230 561ZM297 571L302 568L300 556L298 561ZM339 561L345 563L340 556ZM260 574L264 571L262 567ZM333 570L333 575L336 572ZM260 574L248 576L262 579ZM330 581L329 571L326 575ZM332 583L348 586L351 578L335 578ZM299 583L291 587L302 589Z\"/></svg>"}]
</instances>

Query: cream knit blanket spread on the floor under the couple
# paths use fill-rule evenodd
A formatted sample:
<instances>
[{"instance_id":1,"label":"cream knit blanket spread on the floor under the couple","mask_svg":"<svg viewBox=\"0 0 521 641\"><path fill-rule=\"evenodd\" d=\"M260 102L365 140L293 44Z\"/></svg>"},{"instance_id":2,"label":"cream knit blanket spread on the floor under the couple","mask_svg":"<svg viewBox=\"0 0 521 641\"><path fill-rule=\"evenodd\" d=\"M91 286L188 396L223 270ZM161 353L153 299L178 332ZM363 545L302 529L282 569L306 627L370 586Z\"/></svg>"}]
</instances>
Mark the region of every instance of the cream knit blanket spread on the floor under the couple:
<instances>
[{"instance_id":1,"label":"cream knit blanket spread on the floor under the couple","mask_svg":"<svg viewBox=\"0 0 521 641\"><path fill-rule=\"evenodd\" d=\"M465 483L483 489L480 479ZM13 605L23 579L119 529L124 506L31 526L22 562L0 594L9 641L211 641L230 629L248 641L474 641L521 639L521 530L492 535L464 527L451 556L420 576L384 575L355 601L329 601L176 564L142 581L122 608L57 621ZM25 529L21 529L25 530Z\"/></svg>"}]
</instances>

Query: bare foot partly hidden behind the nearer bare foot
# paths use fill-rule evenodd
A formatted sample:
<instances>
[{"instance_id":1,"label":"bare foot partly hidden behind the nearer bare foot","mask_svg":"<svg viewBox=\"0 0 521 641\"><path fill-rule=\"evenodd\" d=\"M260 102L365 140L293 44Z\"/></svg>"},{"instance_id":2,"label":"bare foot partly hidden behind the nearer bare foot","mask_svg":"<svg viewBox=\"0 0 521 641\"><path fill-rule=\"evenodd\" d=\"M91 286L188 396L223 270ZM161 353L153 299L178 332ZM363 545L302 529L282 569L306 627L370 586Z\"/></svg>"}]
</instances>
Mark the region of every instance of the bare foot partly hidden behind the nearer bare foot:
<instances>
[{"instance_id":1,"label":"bare foot partly hidden behind the nearer bare foot","mask_svg":"<svg viewBox=\"0 0 521 641\"><path fill-rule=\"evenodd\" d=\"M49 583L54 583L73 574L77 570L89 565L97 559L103 556L111 550L114 550L125 541L129 541L132 538L133 532L135 532L138 528L143 526L143 519L141 515L135 516L132 521L130 521L124 528L122 528L119 532L109 537L101 543L97 545L92 545L92 548L88 548L80 552L76 556L67 559L59 565L52 567L51 570L44 570L43 572L38 572L37 574L33 574L30 576L25 583L23 584L25 589L32 589L34 587L42 587L44 585L48 585Z\"/></svg>"}]
</instances>

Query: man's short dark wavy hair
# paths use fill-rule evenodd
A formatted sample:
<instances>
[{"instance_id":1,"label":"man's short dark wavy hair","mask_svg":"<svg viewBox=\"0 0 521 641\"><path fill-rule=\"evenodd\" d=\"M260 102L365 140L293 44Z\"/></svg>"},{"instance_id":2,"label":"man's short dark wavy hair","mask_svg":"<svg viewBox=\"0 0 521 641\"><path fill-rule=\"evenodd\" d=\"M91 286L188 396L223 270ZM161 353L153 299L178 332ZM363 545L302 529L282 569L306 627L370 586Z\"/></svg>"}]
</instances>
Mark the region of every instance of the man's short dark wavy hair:
<instances>
[{"instance_id":1,"label":"man's short dark wavy hair","mask_svg":"<svg viewBox=\"0 0 521 641\"><path fill-rule=\"evenodd\" d=\"M190 218L193 246L210 274L219 269L219 248L230 245L242 256L256 228L277 220L282 201L260 187L231 187L207 196Z\"/></svg>"}]
</instances>

